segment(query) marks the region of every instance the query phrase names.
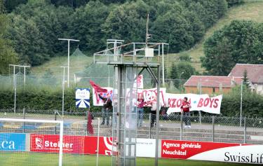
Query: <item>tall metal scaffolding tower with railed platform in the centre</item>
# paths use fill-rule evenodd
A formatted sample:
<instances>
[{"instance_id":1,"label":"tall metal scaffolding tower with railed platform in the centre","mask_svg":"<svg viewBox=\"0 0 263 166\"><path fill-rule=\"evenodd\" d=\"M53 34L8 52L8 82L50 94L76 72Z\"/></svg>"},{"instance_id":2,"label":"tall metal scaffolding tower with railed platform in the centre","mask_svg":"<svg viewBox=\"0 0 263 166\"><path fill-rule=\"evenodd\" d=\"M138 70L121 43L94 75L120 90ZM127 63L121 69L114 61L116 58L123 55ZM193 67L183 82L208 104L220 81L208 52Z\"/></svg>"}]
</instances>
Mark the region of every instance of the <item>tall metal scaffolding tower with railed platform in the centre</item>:
<instances>
[{"instance_id":1,"label":"tall metal scaffolding tower with railed platform in the centre","mask_svg":"<svg viewBox=\"0 0 263 166\"><path fill-rule=\"evenodd\" d=\"M158 165L160 53L163 53L161 49L164 45L168 44L123 44L122 40L109 39L107 40L107 49L93 55L94 63L114 65L112 165L136 165L137 85L135 80L144 69L154 78L157 87L156 165ZM152 71L153 68L158 71L157 77Z\"/></svg>"}]
</instances>

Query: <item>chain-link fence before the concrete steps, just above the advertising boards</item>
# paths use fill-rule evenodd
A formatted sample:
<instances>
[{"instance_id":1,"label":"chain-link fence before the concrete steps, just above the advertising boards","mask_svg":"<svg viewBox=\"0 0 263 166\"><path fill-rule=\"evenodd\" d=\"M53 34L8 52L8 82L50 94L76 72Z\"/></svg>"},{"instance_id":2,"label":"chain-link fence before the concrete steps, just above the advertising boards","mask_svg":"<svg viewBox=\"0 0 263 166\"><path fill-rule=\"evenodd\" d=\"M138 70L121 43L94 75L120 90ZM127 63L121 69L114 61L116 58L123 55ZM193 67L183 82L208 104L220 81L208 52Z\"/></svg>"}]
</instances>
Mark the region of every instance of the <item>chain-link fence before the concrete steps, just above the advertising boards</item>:
<instances>
[{"instance_id":1,"label":"chain-link fence before the concrete steps, just above the advertising boards","mask_svg":"<svg viewBox=\"0 0 263 166\"><path fill-rule=\"evenodd\" d=\"M94 133L97 135L97 127L100 125L101 136L112 136L112 114L109 113L109 125L107 123L98 124L97 118L102 123L102 112L90 113L87 111L62 112L57 110L0 110L1 118L25 118L25 119L45 119L64 120L65 134L90 135L87 130L88 120L92 120ZM156 138L156 116L151 113L144 113L138 116L138 138ZM142 123L139 123L142 120ZM160 115L159 139L177 139L191 141L215 141L229 143L263 144L263 118L235 118L222 116L190 116L189 122L185 125L185 117L180 113ZM0 124L0 132L31 132L38 133L46 130L50 134L58 134L59 127L46 127L34 123L24 123L16 126L12 124ZM15 128L15 130L14 130Z\"/></svg>"}]
</instances>

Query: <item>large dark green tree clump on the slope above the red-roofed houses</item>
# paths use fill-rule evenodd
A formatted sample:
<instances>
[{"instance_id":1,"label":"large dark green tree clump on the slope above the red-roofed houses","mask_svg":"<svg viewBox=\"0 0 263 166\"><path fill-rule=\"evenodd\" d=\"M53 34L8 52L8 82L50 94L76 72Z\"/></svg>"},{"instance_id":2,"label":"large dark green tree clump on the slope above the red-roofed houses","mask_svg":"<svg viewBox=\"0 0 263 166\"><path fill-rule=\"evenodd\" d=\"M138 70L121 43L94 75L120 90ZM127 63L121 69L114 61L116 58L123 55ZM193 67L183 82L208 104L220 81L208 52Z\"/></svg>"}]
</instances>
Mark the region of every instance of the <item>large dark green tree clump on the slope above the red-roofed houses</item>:
<instances>
[{"instance_id":1,"label":"large dark green tree clump on the slope above the red-roofed houses","mask_svg":"<svg viewBox=\"0 0 263 166\"><path fill-rule=\"evenodd\" d=\"M262 23L234 20L204 43L202 66L209 74L225 76L236 63L262 64Z\"/></svg>"}]
</instances>

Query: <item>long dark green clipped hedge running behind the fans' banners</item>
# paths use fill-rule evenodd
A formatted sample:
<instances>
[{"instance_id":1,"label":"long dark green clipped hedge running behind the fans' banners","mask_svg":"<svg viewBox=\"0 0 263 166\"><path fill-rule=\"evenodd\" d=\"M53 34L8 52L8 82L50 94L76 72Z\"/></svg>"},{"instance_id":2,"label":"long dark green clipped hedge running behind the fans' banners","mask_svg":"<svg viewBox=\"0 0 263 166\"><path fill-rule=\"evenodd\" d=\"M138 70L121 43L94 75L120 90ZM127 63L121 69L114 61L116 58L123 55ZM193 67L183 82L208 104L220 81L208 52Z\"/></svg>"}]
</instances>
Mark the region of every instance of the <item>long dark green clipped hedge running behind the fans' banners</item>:
<instances>
[{"instance_id":1,"label":"long dark green clipped hedge running behind the fans' banners","mask_svg":"<svg viewBox=\"0 0 263 166\"><path fill-rule=\"evenodd\" d=\"M92 93L90 93L90 111L101 111L101 106L93 106ZM48 92L41 90L39 92L17 92L17 109L33 109L33 110L61 110L62 109L62 92ZM12 90L0 91L0 109L13 109L14 93ZM243 116L263 117L263 96L254 92L244 90L243 92ZM83 109L82 109L83 110ZM80 109L75 107L74 89L65 91L65 111L78 112ZM149 108L144 110L149 112ZM223 95L221 104L221 113L223 116L239 116L240 115L240 92L233 92Z\"/></svg>"}]
</instances>

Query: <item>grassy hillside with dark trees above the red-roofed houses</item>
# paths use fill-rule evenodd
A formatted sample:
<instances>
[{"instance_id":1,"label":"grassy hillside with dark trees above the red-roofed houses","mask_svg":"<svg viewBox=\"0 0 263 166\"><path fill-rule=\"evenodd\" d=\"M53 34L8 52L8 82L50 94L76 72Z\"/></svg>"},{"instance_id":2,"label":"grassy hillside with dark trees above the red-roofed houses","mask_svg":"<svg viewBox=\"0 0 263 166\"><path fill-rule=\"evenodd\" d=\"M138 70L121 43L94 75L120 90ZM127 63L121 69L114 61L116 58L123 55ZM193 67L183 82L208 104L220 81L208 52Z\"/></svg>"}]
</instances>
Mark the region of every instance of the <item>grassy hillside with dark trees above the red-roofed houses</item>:
<instances>
[{"instance_id":1,"label":"grassy hillside with dark trees above the red-roofed houses","mask_svg":"<svg viewBox=\"0 0 263 166\"><path fill-rule=\"evenodd\" d=\"M263 1L245 0L242 4L229 8L224 17L220 18L215 25L207 29L203 39L201 39L196 46L190 50L169 55L170 60L178 60L181 56L188 55L191 57L191 64L197 71L201 73L204 72L204 74L219 74L224 76L229 74L229 69L234 67L235 63L262 64L263 52L258 49L262 48L260 45L263 44L262 37L258 38L258 36L262 36L262 30L260 30L262 22ZM241 37L243 40L240 40ZM213 38L213 41L215 42L211 43L210 38ZM234 43L233 41L241 42ZM211 51L206 51L205 53L205 50L207 50L206 48L208 48L208 45L205 46L205 42L210 43L211 48L214 47L213 53ZM215 46L217 46L217 48L215 48ZM222 46L221 48L223 49L220 49L220 46ZM214 53L217 56L214 59L211 59ZM240 58L239 56L236 56L237 58L233 59L231 57L233 54L241 56ZM251 57L253 58L250 58L250 55L252 55ZM205 59L209 63L205 60L201 63L201 57L203 58L205 56L207 56ZM259 59L256 59L255 57L258 57ZM217 60L222 61L220 62ZM169 66L172 65L169 62L167 63Z\"/></svg>"}]
</instances>

